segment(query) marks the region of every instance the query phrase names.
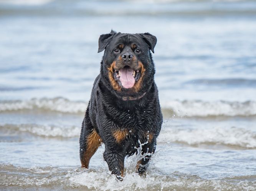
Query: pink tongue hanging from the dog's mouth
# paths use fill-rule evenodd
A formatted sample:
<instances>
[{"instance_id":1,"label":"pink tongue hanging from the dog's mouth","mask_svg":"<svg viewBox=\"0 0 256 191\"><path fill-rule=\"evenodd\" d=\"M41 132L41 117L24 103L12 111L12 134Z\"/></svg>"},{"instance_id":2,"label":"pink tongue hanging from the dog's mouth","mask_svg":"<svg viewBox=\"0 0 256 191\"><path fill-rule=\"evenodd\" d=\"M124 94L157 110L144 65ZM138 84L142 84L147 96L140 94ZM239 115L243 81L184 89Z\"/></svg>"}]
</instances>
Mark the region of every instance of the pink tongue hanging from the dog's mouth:
<instances>
[{"instance_id":1,"label":"pink tongue hanging from the dog's mouth","mask_svg":"<svg viewBox=\"0 0 256 191\"><path fill-rule=\"evenodd\" d=\"M132 73L132 68L122 68L121 70L119 70L120 81L124 88L130 88L134 85L135 79L132 76Z\"/></svg>"}]
</instances>

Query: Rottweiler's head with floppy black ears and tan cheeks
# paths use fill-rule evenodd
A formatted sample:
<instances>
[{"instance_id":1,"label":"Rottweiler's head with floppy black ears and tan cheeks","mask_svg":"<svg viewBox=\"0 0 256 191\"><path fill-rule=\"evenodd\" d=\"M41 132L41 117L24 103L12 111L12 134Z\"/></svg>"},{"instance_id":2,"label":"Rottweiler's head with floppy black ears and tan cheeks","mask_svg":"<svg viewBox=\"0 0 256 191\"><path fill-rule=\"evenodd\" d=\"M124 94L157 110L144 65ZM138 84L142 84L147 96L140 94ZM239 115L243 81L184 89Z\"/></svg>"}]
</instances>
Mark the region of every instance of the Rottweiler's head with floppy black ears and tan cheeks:
<instances>
[{"instance_id":1,"label":"Rottweiler's head with floppy black ears and tan cheeks","mask_svg":"<svg viewBox=\"0 0 256 191\"><path fill-rule=\"evenodd\" d=\"M149 33L127 34L111 31L99 37L99 50L105 49L101 74L117 93L137 94L154 80L154 53L157 38Z\"/></svg>"}]
</instances>

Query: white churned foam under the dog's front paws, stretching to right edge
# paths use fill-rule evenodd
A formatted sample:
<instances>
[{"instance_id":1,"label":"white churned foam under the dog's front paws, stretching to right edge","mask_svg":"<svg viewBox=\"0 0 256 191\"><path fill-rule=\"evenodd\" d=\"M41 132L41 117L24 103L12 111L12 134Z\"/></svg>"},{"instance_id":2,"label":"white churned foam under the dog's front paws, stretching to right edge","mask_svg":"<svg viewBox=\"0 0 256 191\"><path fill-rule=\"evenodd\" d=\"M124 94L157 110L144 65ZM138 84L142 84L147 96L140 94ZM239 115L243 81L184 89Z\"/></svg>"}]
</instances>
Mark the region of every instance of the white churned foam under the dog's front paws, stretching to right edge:
<instances>
[{"instance_id":1,"label":"white churned foam under the dog's front paws, stretching to right edge","mask_svg":"<svg viewBox=\"0 0 256 191\"><path fill-rule=\"evenodd\" d=\"M141 177L137 173L126 173L122 182L106 172L84 172L69 178L74 187L86 186L96 190L185 190L185 189L244 189L255 190L250 181L204 180L198 176L155 175L153 171Z\"/></svg>"}]
</instances>

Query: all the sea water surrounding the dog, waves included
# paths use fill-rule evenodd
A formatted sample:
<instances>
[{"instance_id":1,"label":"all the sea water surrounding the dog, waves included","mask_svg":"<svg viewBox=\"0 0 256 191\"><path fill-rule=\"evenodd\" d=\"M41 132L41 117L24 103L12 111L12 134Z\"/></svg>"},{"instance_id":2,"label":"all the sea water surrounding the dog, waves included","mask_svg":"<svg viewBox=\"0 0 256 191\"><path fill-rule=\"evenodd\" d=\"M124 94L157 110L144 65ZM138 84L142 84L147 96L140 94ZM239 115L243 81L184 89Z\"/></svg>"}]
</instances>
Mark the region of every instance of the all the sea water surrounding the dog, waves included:
<instances>
[{"instance_id":1,"label":"all the sea water surrounding the dog, waves included","mask_svg":"<svg viewBox=\"0 0 256 191\"><path fill-rule=\"evenodd\" d=\"M164 114L147 174L132 156L122 182L104 145L79 161L111 29L157 37ZM256 190L255 124L256 2L0 1L1 190Z\"/></svg>"}]
</instances>

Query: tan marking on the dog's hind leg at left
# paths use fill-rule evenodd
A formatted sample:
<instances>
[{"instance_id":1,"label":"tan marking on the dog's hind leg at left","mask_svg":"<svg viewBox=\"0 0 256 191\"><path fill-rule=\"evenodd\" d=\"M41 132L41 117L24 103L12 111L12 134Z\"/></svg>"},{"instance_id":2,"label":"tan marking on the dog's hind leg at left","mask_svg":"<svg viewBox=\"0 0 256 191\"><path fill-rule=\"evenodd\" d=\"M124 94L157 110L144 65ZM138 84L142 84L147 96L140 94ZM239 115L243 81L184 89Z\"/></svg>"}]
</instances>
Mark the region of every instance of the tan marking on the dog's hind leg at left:
<instances>
[{"instance_id":1,"label":"tan marking on the dog's hind leg at left","mask_svg":"<svg viewBox=\"0 0 256 191\"><path fill-rule=\"evenodd\" d=\"M86 140L86 151L84 152L83 159L81 159L81 164L82 164L81 167L85 167L85 168L89 167L90 159L92 155L94 155L94 153L97 151L101 143L102 143L102 139L94 129Z\"/></svg>"}]
</instances>

